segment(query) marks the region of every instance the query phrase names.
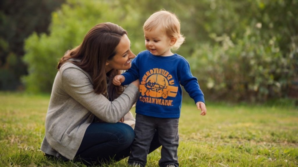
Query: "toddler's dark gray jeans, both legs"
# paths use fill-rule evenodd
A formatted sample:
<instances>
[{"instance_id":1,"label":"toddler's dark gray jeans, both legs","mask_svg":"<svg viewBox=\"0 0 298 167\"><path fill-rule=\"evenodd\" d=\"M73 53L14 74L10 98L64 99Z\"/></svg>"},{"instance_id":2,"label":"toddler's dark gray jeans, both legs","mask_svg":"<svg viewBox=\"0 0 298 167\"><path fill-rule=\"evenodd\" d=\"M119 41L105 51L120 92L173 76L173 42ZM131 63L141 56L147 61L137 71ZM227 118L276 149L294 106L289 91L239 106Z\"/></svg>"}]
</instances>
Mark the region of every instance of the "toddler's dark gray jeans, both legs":
<instances>
[{"instance_id":1,"label":"toddler's dark gray jeans, both legs","mask_svg":"<svg viewBox=\"0 0 298 167\"><path fill-rule=\"evenodd\" d=\"M150 143L156 130L158 130L159 143L162 145L159 166L164 167L173 164L178 167L178 123L179 118L156 118L136 114L136 126L134 129L136 135L131 145L128 164L146 165Z\"/></svg>"}]
</instances>

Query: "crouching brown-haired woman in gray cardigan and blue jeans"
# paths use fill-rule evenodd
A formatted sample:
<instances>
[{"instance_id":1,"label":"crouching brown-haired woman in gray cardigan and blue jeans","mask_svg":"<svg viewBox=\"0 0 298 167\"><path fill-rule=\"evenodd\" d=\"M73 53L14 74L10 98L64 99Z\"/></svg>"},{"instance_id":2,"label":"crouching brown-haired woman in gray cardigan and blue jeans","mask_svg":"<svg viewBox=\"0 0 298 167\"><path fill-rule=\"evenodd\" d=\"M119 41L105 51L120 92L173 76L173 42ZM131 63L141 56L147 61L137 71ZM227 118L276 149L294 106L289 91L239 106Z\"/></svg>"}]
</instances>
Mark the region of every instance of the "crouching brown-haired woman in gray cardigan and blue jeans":
<instances>
[{"instance_id":1,"label":"crouching brown-haired woman in gray cardigan and blue jeans","mask_svg":"<svg viewBox=\"0 0 298 167\"><path fill-rule=\"evenodd\" d=\"M135 122L129 110L138 98L139 82L124 90L111 81L131 67L134 57L127 32L102 23L61 58L41 144L47 156L93 164L129 155ZM150 152L160 146L155 136Z\"/></svg>"}]
</instances>

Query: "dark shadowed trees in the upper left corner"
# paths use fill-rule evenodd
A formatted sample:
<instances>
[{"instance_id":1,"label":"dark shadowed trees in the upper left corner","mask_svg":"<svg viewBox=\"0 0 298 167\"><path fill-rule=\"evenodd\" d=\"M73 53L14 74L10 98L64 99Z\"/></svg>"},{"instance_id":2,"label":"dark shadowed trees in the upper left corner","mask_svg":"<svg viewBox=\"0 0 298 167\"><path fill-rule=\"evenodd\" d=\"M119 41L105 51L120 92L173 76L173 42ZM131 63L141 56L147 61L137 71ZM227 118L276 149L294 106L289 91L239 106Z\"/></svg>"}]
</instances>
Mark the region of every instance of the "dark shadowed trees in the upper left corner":
<instances>
[{"instance_id":1,"label":"dark shadowed trees in the upper left corner","mask_svg":"<svg viewBox=\"0 0 298 167\"><path fill-rule=\"evenodd\" d=\"M48 33L51 12L64 0L0 1L0 90L21 89L27 74L22 62L24 39L32 32Z\"/></svg>"}]
</instances>

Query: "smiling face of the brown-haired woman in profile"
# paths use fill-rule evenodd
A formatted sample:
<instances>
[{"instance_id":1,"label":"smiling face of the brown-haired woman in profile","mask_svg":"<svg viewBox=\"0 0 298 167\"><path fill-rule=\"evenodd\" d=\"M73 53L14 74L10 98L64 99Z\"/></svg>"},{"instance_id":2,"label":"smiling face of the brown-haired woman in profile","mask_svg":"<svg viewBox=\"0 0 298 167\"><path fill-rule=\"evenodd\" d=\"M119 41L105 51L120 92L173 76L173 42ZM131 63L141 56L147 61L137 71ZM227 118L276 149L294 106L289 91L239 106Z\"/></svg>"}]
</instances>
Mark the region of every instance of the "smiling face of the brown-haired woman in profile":
<instances>
[{"instance_id":1,"label":"smiling face of the brown-haired woman in profile","mask_svg":"<svg viewBox=\"0 0 298 167\"><path fill-rule=\"evenodd\" d=\"M107 60L105 64L106 73L111 69L128 70L131 68L131 59L135 58L136 55L131 52L130 46L130 40L124 34L116 47L116 55L111 60Z\"/></svg>"}]
</instances>

